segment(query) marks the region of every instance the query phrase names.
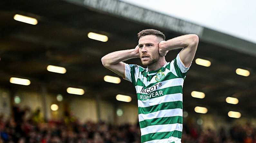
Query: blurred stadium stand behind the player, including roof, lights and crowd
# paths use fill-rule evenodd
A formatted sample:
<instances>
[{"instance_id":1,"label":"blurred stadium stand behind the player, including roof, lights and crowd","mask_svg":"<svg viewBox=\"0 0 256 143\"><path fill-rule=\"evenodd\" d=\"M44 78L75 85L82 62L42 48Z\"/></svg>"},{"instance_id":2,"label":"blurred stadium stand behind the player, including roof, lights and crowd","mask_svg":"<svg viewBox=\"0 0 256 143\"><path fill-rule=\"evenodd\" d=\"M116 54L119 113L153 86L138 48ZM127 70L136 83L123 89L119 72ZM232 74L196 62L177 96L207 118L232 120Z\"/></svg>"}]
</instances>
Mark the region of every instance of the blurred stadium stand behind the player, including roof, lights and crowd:
<instances>
[{"instance_id":1,"label":"blurred stadium stand behind the player, including roof, lights and crowd","mask_svg":"<svg viewBox=\"0 0 256 143\"><path fill-rule=\"evenodd\" d=\"M136 91L101 57L135 48L148 28L200 38L183 86L182 142L256 143L254 39L140 3L0 1L0 143L139 143Z\"/></svg>"}]
</instances>

